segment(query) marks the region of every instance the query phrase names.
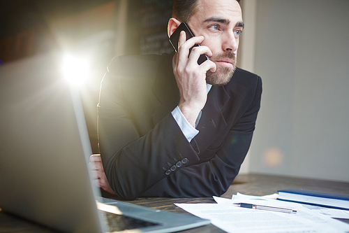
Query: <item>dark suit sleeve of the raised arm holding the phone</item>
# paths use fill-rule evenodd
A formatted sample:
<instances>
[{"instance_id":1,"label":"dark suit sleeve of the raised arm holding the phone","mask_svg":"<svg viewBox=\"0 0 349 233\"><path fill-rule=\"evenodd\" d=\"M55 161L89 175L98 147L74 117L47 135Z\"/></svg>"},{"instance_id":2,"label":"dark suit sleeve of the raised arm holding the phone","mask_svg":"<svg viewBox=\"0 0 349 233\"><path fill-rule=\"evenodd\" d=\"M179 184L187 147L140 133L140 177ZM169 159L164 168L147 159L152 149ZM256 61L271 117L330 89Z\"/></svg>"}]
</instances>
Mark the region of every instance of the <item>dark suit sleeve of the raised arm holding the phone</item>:
<instances>
[{"instance_id":1,"label":"dark suit sleeve of the raised arm holding the phone","mask_svg":"<svg viewBox=\"0 0 349 233\"><path fill-rule=\"evenodd\" d=\"M115 70L123 70L121 61L114 61L114 65L119 66ZM140 133L128 104L132 100L125 99L128 78L114 71L105 74L98 104L98 137L111 188L123 199L135 199L174 171L196 162L198 156L170 112L149 132ZM144 88L147 83L149 80ZM142 80L138 85L143 85ZM144 119L144 124L149 124L149 119Z\"/></svg>"}]
</instances>

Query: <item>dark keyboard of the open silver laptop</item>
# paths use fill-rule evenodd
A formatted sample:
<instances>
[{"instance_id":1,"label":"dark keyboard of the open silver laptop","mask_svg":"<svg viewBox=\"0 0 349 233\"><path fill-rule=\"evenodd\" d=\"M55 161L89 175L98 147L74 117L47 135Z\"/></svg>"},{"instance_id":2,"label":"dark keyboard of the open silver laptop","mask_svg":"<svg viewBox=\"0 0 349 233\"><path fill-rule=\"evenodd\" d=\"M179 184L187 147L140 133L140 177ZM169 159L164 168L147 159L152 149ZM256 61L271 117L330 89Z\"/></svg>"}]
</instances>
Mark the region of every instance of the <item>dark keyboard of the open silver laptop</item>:
<instances>
[{"instance_id":1,"label":"dark keyboard of the open silver laptop","mask_svg":"<svg viewBox=\"0 0 349 233\"><path fill-rule=\"evenodd\" d=\"M103 212L105 213L105 218L107 218L107 223L109 225L110 232L132 230L132 229L138 229L141 227L152 227L152 226L159 225L158 223L151 223L145 220L140 220L138 218L123 216L123 215L114 214L106 211L103 211Z\"/></svg>"}]
</instances>

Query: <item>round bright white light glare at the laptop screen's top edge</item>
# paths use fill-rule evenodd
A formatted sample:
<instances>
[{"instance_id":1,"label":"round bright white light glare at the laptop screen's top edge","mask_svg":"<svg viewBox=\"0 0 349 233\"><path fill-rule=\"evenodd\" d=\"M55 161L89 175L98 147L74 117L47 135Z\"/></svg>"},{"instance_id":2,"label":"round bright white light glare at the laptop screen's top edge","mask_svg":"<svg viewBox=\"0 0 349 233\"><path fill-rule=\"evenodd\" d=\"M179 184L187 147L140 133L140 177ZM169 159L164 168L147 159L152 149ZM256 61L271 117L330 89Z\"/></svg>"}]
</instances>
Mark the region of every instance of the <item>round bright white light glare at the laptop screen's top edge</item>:
<instances>
[{"instance_id":1,"label":"round bright white light glare at the laptop screen's top edge","mask_svg":"<svg viewBox=\"0 0 349 233\"><path fill-rule=\"evenodd\" d=\"M89 75L89 64L87 59L73 55L64 56L63 73L64 78L72 85L80 87L87 82Z\"/></svg>"}]
</instances>

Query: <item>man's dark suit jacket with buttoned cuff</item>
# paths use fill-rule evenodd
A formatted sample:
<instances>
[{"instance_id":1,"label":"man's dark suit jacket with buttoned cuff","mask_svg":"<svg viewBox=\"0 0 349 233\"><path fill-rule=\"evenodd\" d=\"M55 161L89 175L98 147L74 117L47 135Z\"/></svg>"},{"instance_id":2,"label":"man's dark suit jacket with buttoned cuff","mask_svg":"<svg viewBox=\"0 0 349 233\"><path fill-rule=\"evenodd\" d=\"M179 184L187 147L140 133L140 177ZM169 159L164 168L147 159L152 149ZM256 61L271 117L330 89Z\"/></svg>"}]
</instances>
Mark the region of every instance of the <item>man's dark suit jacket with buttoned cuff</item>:
<instances>
[{"instance_id":1,"label":"man's dark suit jacket with buttoned cuff","mask_svg":"<svg viewBox=\"0 0 349 233\"><path fill-rule=\"evenodd\" d=\"M259 76L237 69L213 86L189 143L172 117L179 90L171 55L115 57L101 84L98 136L114 192L135 197L222 195L239 171L260 108Z\"/></svg>"}]
</instances>

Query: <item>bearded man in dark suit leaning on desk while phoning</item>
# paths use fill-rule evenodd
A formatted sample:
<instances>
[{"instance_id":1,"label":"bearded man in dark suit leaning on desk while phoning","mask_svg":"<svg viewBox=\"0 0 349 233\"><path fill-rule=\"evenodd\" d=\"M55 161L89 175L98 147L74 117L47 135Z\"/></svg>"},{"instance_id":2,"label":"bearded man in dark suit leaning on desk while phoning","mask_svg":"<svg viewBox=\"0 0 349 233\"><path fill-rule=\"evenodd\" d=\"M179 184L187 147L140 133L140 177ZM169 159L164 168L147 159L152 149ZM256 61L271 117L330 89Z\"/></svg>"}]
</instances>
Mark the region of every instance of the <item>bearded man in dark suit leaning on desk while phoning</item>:
<instances>
[{"instance_id":1,"label":"bearded man in dark suit leaning on desk while phoning","mask_svg":"<svg viewBox=\"0 0 349 233\"><path fill-rule=\"evenodd\" d=\"M123 199L222 195L251 143L262 82L236 68L239 2L174 0L168 36L181 22L177 52L115 57L101 84L91 167Z\"/></svg>"}]
</instances>

